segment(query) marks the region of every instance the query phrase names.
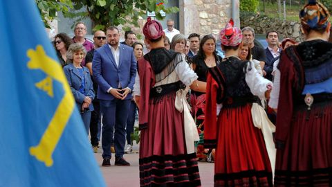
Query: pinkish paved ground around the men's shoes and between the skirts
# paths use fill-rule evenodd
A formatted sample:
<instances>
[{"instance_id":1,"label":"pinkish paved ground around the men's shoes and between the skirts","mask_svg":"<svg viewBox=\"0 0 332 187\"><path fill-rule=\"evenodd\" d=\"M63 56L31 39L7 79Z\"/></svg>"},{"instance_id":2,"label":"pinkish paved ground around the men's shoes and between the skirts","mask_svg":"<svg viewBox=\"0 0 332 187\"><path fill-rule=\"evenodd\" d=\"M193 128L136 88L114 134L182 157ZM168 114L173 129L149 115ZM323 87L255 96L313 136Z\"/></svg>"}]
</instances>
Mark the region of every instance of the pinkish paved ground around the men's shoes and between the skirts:
<instances>
[{"instance_id":1,"label":"pinkish paved ground around the men's shoes and between the skirts","mask_svg":"<svg viewBox=\"0 0 332 187\"><path fill-rule=\"evenodd\" d=\"M95 153L95 159L100 165L100 170L108 187L134 187L140 186L140 176L138 169L138 145L133 146L136 153L124 154L131 166L114 166L114 158L111 159L111 167L102 167L102 149ZM213 186L214 163L199 162L199 172L202 186Z\"/></svg>"}]
</instances>

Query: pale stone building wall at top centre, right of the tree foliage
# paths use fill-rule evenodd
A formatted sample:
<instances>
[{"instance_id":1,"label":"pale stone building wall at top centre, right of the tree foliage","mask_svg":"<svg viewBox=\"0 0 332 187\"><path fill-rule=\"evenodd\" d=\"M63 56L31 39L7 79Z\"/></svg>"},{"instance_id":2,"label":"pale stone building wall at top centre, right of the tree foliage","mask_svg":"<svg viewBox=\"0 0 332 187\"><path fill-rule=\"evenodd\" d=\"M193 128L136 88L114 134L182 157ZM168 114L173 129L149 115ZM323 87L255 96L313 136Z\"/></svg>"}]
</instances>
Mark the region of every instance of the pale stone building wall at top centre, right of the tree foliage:
<instances>
[{"instance_id":1,"label":"pale stone building wall at top centre, right of the tree foliage","mask_svg":"<svg viewBox=\"0 0 332 187\"><path fill-rule=\"evenodd\" d=\"M180 2L180 32L185 35L190 33L217 35L232 17L231 0L183 0Z\"/></svg>"}]
</instances>

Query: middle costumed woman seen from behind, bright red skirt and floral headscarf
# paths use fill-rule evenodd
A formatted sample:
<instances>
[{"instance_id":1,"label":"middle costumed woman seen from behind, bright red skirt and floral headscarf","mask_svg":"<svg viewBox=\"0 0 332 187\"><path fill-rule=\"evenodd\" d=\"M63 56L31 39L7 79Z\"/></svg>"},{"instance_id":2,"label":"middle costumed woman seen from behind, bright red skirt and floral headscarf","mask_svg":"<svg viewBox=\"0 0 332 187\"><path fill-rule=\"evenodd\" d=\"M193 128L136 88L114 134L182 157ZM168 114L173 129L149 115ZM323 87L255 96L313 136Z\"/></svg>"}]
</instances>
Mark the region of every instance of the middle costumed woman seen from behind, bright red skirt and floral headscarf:
<instances>
[{"instance_id":1,"label":"middle costumed woman seen from behind, bright red skirt and floral headscarf","mask_svg":"<svg viewBox=\"0 0 332 187\"><path fill-rule=\"evenodd\" d=\"M269 145L257 98L268 96L272 82L252 62L239 59L242 33L233 25L231 19L221 30L225 57L207 75L204 145L216 148L214 186L273 186L270 155L275 157L275 151L268 152L274 148L273 137L270 132Z\"/></svg>"}]
</instances>

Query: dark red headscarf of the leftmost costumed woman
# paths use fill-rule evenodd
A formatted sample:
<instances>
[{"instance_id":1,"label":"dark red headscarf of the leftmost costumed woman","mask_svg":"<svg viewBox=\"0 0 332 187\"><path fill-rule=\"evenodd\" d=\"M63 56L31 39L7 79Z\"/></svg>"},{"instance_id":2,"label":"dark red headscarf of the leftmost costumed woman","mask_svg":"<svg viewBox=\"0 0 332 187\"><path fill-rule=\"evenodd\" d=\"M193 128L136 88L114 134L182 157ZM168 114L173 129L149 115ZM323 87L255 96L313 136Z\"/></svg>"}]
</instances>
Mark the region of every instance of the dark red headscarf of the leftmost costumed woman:
<instances>
[{"instance_id":1,"label":"dark red headscarf of the leftmost costumed woman","mask_svg":"<svg viewBox=\"0 0 332 187\"><path fill-rule=\"evenodd\" d=\"M164 34L163 26L158 21L147 17L147 23L143 26L143 34L147 39L158 39Z\"/></svg>"}]
</instances>

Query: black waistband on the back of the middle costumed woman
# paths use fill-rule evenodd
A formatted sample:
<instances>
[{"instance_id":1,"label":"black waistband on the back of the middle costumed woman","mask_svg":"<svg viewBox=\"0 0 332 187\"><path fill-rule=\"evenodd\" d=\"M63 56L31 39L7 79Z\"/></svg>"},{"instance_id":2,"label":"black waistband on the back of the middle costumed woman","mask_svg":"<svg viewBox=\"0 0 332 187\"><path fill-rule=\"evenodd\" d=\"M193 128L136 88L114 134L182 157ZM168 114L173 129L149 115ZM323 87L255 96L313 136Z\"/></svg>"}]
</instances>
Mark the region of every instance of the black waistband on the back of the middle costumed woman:
<instances>
[{"instance_id":1,"label":"black waistband on the back of the middle costumed woman","mask_svg":"<svg viewBox=\"0 0 332 187\"><path fill-rule=\"evenodd\" d=\"M223 101L223 107L234 108L244 106L247 103L258 103L261 105L261 100L257 96L228 97Z\"/></svg>"}]
</instances>

